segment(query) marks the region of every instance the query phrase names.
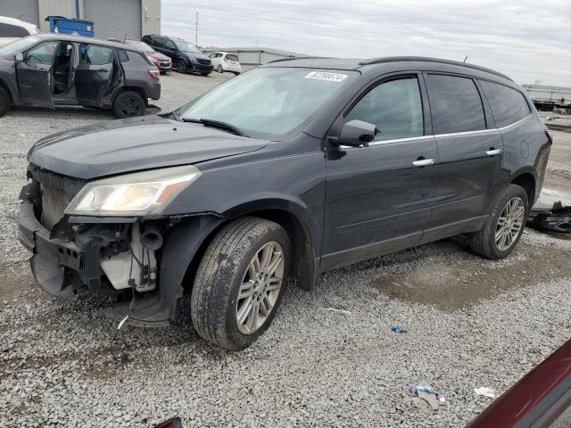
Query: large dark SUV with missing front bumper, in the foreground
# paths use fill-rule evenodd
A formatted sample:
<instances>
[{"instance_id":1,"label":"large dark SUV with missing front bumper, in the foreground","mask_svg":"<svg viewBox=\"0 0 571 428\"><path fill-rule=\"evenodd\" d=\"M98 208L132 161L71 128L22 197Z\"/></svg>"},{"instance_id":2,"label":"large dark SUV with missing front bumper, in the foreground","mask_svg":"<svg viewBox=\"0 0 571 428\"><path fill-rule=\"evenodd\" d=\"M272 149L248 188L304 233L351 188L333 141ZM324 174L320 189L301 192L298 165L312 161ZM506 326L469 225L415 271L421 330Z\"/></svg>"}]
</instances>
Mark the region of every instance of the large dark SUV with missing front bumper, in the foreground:
<instances>
[{"instance_id":1,"label":"large dark SUV with missing front bumper, in the foreground","mask_svg":"<svg viewBox=\"0 0 571 428\"><path fill-rule=\"evenodd\" d=\"M101 134L104 132L104 138ZM268 327L287 278L468 234L514 250L550 134L510 78L426 58L270 62L168 115L48 136L29 152L20 239L56 296L196 331L230 350Z\"/></svg>"}]
</instances>

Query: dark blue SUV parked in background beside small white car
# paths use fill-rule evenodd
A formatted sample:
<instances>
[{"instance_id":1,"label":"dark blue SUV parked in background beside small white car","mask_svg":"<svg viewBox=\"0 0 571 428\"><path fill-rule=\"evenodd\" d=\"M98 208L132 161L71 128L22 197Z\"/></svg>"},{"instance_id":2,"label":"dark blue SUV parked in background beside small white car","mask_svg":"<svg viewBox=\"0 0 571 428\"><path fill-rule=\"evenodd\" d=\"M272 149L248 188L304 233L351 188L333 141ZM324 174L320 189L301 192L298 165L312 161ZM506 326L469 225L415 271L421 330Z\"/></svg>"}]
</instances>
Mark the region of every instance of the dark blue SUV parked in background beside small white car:
<instances>
[{"instance_id":1,"label":"dark blue SUV parked in background beside small white car","mask_svg":"<svg viewBox=\"0 0 571 428\"><path fill-rule=\"evenodd\" d=\"M213 67L211 59L200 49L182 38L146 35L141 39L157 52L170 57L173 67L181 73L192 71L208 76Z\"/></svg>"}]
</instances>

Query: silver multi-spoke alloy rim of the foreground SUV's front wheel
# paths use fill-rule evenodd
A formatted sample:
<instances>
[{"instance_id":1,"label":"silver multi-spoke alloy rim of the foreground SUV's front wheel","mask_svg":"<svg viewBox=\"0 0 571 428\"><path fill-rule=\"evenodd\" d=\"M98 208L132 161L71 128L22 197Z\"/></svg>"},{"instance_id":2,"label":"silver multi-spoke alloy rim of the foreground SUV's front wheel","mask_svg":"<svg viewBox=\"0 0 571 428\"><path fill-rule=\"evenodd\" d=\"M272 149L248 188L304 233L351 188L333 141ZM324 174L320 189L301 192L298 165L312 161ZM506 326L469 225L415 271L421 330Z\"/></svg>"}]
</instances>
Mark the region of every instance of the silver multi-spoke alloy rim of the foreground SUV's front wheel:
<instances>
[{"instance_id":1,"label":"silver multi-spoke alloy rim of the foreground SUV's front wheel","mask_svg":"<svg viewBox=\"0 0 571 428\"><path fill-rule=\"evenodd\" d=\"M252 257L236 300L236 322L243 334L255 333L276 305L284 279L284 250L266 243Z\"/></svg>"}]
</instances>

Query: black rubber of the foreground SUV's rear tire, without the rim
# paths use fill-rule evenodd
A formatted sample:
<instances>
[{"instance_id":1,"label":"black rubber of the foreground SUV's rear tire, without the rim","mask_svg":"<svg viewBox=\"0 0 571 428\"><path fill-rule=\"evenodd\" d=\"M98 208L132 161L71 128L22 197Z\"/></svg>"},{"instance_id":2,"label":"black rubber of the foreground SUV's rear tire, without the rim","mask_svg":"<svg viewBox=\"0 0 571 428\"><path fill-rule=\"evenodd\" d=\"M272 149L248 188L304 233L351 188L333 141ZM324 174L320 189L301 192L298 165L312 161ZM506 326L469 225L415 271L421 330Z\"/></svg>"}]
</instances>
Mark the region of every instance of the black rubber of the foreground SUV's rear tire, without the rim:
<instances>
[{"instance_id":1,"label":"black rubber of the foreground SUV's rear tire, without the rim","mask_svg":"<svg viewBox=\"0 0 571 428\"><path fill-rule=\"evenodd\" d=\"M508 202L512 201L514 198L519 198L523 202L525 210L524 218L517 237L509 244L509 248L501 250L498 248L498 244L496 243L496 231L499 227L498 223L502 211ZM524 232L525 220L527 219L528 213L529 202L527 201L527 193L525 193L524 188L519 185L507 185L506 188L496 196L496 199L492 203L492 212L485 220L482 230L468 236L470 249L486 259L503 259L504 257L507 257L511 251L516 248L516 245Z\"/></svg>"}]
</instances>

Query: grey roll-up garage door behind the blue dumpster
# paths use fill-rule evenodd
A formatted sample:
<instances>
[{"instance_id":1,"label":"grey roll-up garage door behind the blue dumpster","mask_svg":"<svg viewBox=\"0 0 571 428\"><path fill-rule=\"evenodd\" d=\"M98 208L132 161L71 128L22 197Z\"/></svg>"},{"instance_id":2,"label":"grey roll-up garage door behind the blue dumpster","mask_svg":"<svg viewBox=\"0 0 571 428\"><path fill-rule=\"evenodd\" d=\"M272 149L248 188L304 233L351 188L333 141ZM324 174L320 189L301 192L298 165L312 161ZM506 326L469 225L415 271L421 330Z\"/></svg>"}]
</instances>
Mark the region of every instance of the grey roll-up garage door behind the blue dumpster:
<instances>
[{"instance_id":1,"label":"grey roll-up garage door behind the blue dumpster","mask_svg":"<svg viewBox=\"0 0 571 428\"><path fill-rule=\"evenodd\" d=\"M4 0L3 0L4 1ZM140 39L141 0L84 0L83 15L95 22L95 37Z\"/></svg>"}]
</instances>

